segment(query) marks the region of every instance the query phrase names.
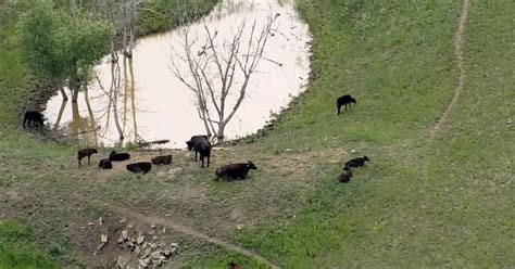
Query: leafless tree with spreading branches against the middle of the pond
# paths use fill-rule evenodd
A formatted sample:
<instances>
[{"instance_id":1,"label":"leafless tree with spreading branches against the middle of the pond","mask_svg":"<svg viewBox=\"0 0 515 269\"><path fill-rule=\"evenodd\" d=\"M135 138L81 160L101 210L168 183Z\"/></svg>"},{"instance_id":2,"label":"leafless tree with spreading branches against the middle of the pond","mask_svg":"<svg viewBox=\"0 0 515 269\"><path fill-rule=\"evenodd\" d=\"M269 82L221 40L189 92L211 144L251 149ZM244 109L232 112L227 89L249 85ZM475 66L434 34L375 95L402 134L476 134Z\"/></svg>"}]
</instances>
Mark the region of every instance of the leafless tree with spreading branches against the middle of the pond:
<instances>
[{"instance_id":1,"label":"leafless tree with spreading branches against the middle of the pond","mask_svg":"<svg viewBox=\"0 0 515 269\"><path fill-rule=\"evenodd\" d=\"M224 140L227 124L247 97L247 87L264 59L278 16L271 13L262 27L256 20L250 26L243 21L230 38L221 41L218 30L210 29L205 21L200 30L205 35L202 43L188 27L179 29L184 51L173 50L171 71L193 92L199 117L208 134L214 133L218 142Z\"/></svg>"}]
</instances>

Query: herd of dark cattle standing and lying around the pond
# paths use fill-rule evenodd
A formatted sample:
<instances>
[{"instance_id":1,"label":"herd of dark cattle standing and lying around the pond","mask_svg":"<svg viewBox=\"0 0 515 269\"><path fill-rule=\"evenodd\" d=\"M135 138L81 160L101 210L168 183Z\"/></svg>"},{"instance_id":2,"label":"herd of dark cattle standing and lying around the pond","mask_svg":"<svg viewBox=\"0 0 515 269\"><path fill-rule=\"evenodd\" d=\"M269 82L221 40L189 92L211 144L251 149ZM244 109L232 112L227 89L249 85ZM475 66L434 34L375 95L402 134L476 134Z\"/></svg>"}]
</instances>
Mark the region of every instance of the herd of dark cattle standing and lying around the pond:
<instances>
[{"instance_id":1,"label":"herd of dark cattle standing and lying around the pond","mask_svg":"<svg viewBox=\"0 0 515 269\"><path fill-rule=\"evenodd\" d=\"M350 94L344 94L337 100L337 108L338 115L340 115L340 110L342 106L347 110L347 105L351 107L351 103L356 103L356 100L352 98ZM25 113L25 117L23 119L23 128L25 125L28 125L30 128L33 126L43 126L43 117L40 112L36 111L27 111ZM194 162L197 162L197 155L200 156L200 161L202 162L202 168L205 166L210 167L210 158L211 158L211 142L208 136L193 136L190 140L186 141L188 146L188 151L194 150ZM77 153L77 161L78 166L81 166L80 161L85 157L88 157L88 164L90 164L90 158L92 154L98 154L97 149L84 149L79 150ZM102 158L99 163L99 168L101 169L112 169L113 162L123 162L130 158L130 154L128 153L116 153L112 151L109 154L108 158ZM205 161L205 163L204 163ZM339 175L338 180L342 183L348 183L351 178L353 177L353 172L351 167L362 167L365 165L366 162L370 159L365 155L363 157L353 158L348 161L344 164L343 171ZM163 156L155 156L150 159L150 162L138 162L126 165L127 170L131 172L142 172L143 175L149 172L152 169L152 165L169 165L172 163L172 155L163 155ZM255 170L258 167L251 162L247 163L236 163L229 164L219 167L216 169L215 175L217 178L226 178L226 179L244 179L249 174L249 170Z\"/></svg>"}]
</instances>

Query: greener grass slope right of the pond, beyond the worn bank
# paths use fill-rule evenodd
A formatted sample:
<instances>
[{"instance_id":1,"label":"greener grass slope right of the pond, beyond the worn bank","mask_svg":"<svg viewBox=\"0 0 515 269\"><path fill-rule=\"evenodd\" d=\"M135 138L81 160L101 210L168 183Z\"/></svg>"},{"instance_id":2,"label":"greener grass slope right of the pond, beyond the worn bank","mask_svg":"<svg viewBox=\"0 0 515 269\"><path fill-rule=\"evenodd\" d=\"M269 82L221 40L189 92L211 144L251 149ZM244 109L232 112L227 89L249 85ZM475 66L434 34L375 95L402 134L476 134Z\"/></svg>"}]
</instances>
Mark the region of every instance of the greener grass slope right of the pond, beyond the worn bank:
<instances>
[{"instance_id":1,"label":"greener grass slope right of the pond, beyond the worn bank","mask_svg":"<svg viewBox=\"0 0 515 269\"><path fill-rule=\"evenodd\" d=\"M341 165L313 167L318 188L297 218L240 242L286 267L515 265L512 2L474 1L466 88L428 141L456 87L461 2L299 1L316 79L264 151L339 148L373 161L344 187ZM337 117L344 92L357 105Z\"/></svg>"}]
</instances>

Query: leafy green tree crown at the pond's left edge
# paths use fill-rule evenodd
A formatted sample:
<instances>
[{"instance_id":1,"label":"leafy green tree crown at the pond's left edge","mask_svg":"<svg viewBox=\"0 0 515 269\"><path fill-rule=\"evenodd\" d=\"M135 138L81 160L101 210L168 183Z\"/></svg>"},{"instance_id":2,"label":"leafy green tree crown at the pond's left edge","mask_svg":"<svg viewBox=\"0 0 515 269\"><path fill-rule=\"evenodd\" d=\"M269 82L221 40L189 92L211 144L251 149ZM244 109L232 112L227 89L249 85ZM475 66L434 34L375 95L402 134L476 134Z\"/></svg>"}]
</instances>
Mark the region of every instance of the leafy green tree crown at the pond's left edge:
<instances>
[{"instance_id":1,"label":"leafy green tree crown at the pond's left edge","mask_svg":"<svg viewBox=\"0 0 515 269\"><path fill-rule=\"evenodd\" d=\"M20 23L21 49L30 69L54 80L64 100L64 87L77 101L78 91L91 77L92 67L110 50L111 26L91 21L78 9L56 10L49 1L36 1Z\"/></svg>"}]
</instances>

